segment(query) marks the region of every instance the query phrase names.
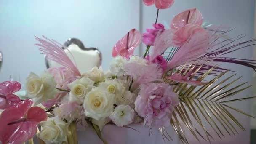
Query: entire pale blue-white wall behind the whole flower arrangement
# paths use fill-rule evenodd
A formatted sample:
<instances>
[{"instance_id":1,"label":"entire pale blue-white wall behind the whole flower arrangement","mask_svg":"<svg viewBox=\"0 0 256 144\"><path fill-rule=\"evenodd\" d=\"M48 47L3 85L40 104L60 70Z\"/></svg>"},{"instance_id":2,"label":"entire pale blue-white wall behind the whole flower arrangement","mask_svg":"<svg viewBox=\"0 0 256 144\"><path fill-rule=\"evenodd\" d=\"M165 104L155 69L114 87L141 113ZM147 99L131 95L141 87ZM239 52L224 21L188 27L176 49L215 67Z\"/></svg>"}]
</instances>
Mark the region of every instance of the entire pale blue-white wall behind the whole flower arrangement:
<instances>
[{"instance_id":1,"label":"entire pale blue-white wall behind the whole flower arrangement","mask_svg":"<svg viewBox=\"0 0 256 144\"><path fill-rule=\"evenodd\" d=\"M174 15L193 7L203 13L206 22L235 27L233 36L243 33L248 35L245 39L253 38L254 0L176 0L173 7L160 11L158 22L168 25ZM39 75L43 72L44 60L34 46L34 35L45 35L60 43L77 37L86 47L99 48L103 53L103 68L107 69L117 40L132 28L145 32L155 22L155 15L155 7L146 7L140 0L0 0L0 50L4 56L0 81L14 74L20 75L24 85L30 71ZM140 53L144 50L141 48ZM232 56L251 59L252 48ZM238 76L243 75L243 82L251 83L251 69L224 66L237 70ZM241 95L252 96L252 93L247 90ZM248 112L249 102L237 107ZM237 117L248 129L249 119L242 115ZM249 144L249 131L240 131L238 136L227 136L224 141L216 139L212 143Z\"/></svg>"}]
</instances>

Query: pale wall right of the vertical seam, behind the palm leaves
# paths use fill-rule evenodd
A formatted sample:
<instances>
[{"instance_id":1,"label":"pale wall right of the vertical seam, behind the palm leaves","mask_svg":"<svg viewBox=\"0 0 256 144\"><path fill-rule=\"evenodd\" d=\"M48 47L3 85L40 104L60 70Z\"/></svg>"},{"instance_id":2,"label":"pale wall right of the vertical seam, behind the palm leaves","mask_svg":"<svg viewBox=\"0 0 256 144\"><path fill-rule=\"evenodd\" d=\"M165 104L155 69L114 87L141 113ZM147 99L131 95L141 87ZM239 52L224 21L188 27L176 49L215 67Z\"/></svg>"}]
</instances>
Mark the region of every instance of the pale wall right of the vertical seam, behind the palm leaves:
<instances>
[{"instance_id":1,"label":"pale wall right of the vertical seam, behind the palm leaves","mask_svg":"<svg viewBox=\"0 0 256 144\"><path fill-rule=\"evenodd\" d=\"M198 8L203 14L205 22L215 23L215 24L224 24L229 27L235 27L236 29L232 32L231 37L245 34L244 40L251 40L253 38L253 27L254 27L254 9L255 9L255 0L176 0L173 7L167 10L161 10L158 18L158 22L169 25L173 16L181 11L184 11L188 8ZM142 7L142 30L145 32L146 28L152 27L152 24L155 23L156 9L154 6ZM146 48L143 47L144 51ZM232 57L252 59L252 48L243 49L243 51L237 51L233 53ZM243 66L237 66L233 64L223 64L223 67L233 69L237 71L237 77L243 75L243 80L239 81L239 84L242 82L248 81L248 85L252 82L252 70ZM237 84L238 85L238 84ZM243 91L237 96L245 97L252 96L251 89ZM235 107L243 109L245 112L249 112L249 101L244 101L243 103L235 104ZM212 141L212 144L249 144L250 128L249 128L249 118L234 113L235 116L243 123L247 131L239 131L238 136L229 136L227 135L223 141L218 138L215 141ZM238 129L238 128L237 128ZM189 144L198 144L198 141L193 140L192 136L188 139L192 139ZM208 144L207 142L202 142L202 144Z\"/></svg>"}]
</instances>

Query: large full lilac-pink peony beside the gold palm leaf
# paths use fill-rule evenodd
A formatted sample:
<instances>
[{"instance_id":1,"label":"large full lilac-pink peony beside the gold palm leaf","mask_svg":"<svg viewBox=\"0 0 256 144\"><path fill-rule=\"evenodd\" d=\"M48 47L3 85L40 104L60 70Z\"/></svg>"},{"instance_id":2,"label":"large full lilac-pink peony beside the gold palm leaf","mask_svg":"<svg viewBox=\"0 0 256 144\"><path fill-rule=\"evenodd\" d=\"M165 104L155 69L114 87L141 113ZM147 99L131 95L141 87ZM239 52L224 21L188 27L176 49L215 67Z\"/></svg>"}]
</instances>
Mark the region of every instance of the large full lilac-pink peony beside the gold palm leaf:
<instances>
[{"instance_id":1,"label":"large full lilac-pink peony beside the gold palm leaf","mask_svg":"<svg viewBox=\"0 0 256 144\"><path fill-rule=\"evenodd\" d=\"M164 83L141 85L135 100L135 111L144 117L144 124L160 128L170 126L171 114L179 104L179 97L173 88Z\"/></svg>"}]
</instances>

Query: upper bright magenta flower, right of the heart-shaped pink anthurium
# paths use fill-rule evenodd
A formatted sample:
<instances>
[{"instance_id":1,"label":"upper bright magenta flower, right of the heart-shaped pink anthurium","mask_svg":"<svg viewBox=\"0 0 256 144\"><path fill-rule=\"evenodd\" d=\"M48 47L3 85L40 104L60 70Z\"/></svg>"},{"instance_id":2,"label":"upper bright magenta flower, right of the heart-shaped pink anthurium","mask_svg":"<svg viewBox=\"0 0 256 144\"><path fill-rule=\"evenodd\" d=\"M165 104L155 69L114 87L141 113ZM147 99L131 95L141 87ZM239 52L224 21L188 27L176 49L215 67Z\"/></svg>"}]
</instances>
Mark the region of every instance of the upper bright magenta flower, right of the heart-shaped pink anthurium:
<instances>
[{"instance_id":1,"label":"upper bright magenta flower, right of the heart-shaped pink anthurium","mask_svg":"<svg viewBox=\"0 0 256 144\"><path fill-rule=\"evenodd\" d=\"M154 45L157 35L160 35L165 30L163 24L153 24L153 27L155 29L147 29L147 32L142 34L142 41L146 45Z\"/></svg>"}]
</instances>

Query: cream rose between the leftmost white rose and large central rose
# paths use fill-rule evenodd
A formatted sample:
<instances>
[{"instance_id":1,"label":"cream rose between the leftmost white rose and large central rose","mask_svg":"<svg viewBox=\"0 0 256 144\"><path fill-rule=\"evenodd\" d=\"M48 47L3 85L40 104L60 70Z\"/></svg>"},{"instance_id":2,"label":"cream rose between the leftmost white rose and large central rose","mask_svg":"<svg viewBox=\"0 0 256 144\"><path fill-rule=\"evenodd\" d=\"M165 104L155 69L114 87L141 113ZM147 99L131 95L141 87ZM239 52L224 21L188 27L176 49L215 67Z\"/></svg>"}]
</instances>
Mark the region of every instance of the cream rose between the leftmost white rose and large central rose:
<instances>
[{"instance_id":1,"label":"cream rose between the leftmost white rose and large central rose","mask_svg":"<svg viewBox=\"0 0 256 144\"><path fill-rule=\"evenodd\" d=\"M81 79L76 79L72 83L69 83L67 86L70 89L69 92L69 101L76 101L79 104L82 104L86 93L91 91L94 81L88 77L82 77Z\"/></svg>"}]
</instances>

